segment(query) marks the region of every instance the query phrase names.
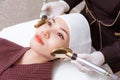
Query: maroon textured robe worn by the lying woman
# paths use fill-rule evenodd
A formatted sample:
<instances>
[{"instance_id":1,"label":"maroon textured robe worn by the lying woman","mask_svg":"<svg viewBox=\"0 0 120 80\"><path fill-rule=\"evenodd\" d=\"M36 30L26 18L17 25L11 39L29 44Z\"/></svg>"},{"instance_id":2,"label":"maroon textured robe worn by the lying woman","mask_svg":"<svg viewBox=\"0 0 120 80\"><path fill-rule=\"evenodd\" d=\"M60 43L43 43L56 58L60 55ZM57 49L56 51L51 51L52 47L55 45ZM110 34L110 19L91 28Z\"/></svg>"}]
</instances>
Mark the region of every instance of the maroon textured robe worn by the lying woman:
<instances>
[{"instance_id":1,"label":"maroon textured robe worn by the lying woman","mask_svg":"<svg viewBox=\"0 0 120 80\"><path fill-rule=\"evenodd\" d=\"M0 80L51 80L52 62L15 65L28 49L0 38Z\"/></svg>"}]
</instances>

